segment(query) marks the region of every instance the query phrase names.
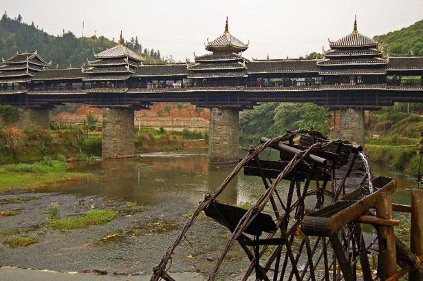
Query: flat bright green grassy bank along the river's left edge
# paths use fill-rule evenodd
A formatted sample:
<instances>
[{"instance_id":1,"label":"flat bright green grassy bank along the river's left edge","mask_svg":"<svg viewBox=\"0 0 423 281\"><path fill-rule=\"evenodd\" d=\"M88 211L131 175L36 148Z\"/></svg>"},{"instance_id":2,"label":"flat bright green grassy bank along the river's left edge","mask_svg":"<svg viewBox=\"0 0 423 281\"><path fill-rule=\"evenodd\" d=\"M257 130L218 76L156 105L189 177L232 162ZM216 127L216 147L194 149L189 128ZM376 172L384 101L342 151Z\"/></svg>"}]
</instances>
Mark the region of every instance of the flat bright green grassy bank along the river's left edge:
<instances>
[{"instance_id":1,"label":"flat bright green grassy bank along the river's left edge","mask_svg":"<svg viewBox=\"0 0 423 281\"><path fill-rule=\"evenodd\" d=\"M0 191L14 187L34 188L88 176L86 173L67 171L69 167L64 160L48 158L32 164L0 166Z\"/></svg>"}]
</instances>

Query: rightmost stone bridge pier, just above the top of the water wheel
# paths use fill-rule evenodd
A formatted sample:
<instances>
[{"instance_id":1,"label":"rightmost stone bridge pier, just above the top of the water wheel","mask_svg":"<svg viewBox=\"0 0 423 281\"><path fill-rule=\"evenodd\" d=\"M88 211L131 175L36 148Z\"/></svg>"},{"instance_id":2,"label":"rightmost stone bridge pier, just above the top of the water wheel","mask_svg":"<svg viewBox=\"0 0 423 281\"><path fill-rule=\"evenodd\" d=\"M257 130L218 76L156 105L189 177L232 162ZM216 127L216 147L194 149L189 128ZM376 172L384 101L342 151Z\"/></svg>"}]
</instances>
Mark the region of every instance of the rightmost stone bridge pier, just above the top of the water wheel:
<instances>
[{"instance_id":1,"label":"rightmost stone bridge pier, just above the top of the water wheel","mask_svg":"<svg viewBox=\"0 0 423 281\"><path fill-rule=\"evenodd\" d=\"M340 110L339 138L358 145L365 144L365 111L347 108Z\"/></svg>"}]
</instances>

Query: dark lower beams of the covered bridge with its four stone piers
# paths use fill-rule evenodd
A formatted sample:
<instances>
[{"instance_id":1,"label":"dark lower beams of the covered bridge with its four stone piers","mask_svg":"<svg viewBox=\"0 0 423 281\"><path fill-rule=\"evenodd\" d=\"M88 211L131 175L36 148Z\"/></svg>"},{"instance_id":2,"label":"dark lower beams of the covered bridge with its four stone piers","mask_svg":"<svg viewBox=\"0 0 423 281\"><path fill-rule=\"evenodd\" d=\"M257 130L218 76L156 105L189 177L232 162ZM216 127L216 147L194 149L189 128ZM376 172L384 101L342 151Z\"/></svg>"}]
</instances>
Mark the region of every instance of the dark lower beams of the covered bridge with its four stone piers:
<instances>
[{"instance_id":1,"label":"dark lower beams of the covered bridge with its four stone piers","mask_svg":"<svg viewBox=\"0 0 423 281\"><path fill-rule=\"evenodd\" d=\"M262 102L323 105L340 110L340 138L364 143L364 110L379 110L394 102L423 102L423 90L252 90L237 91L151 91L124 94L2 94L0 104L23 107L21 127L47 127L48 112L63 103L85 103L103 108L102 157L134 155L133 110L148 109L158 102L188 102L211 109L209 133L210 163L235 163L239 149L239 110L252 109Z\"/></svg>"}]
</instances>

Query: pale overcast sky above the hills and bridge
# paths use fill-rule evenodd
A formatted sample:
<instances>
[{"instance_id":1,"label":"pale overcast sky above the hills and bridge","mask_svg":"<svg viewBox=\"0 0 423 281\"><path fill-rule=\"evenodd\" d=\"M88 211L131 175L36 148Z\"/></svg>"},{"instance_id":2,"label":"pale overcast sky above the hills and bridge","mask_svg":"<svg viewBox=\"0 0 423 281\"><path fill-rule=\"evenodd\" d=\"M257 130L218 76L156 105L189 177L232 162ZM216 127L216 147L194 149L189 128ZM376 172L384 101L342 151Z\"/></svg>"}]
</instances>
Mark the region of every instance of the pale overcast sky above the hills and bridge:
<instances>
[{"instance_id":1,"label":"pale overcast sky above the hills and bridge","mask_svg":"<svg viewBox=\"0 0 423 281\"><path fill-rule=\"evenodd\" d=\"M352 31L373 37L423 19L423 0L0 0L12 18L34 21L50 34L70 30L82 36L94 32L117 40L138 36L144 47L185 60L204 54L204 42L224 31L250 41L247 58L304 56L328 48L327 39Z\"/></svg>"}]
</instances>

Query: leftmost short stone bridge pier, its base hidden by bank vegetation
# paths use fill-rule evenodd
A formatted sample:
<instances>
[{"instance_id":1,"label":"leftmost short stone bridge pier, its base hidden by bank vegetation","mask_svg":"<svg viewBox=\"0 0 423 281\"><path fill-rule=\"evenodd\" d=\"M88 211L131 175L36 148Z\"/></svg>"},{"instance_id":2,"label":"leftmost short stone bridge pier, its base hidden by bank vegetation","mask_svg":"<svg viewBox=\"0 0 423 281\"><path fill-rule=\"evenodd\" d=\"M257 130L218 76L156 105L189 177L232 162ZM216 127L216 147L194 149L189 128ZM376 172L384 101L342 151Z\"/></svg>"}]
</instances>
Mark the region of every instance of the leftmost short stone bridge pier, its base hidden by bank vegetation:
<instances>
[{"instance_id":1,"label":"leftmost short stone bridge pier, its base hidden by bank vegetation","mask_svg":"<svg viewBox=\"0 0 423 281\"><path fill-rule=\"evenodd\" d=\"M15 125L21 129L50 129L50 110L19 107L19 121Z\"/></svg>"}]
</instances>

